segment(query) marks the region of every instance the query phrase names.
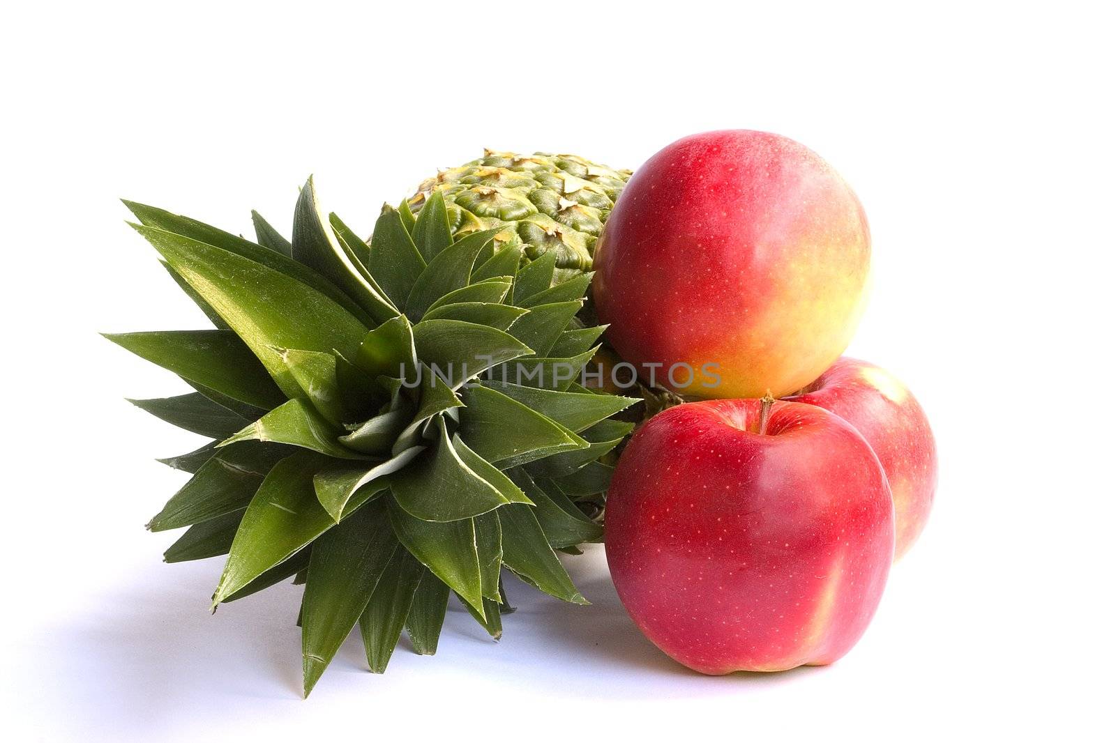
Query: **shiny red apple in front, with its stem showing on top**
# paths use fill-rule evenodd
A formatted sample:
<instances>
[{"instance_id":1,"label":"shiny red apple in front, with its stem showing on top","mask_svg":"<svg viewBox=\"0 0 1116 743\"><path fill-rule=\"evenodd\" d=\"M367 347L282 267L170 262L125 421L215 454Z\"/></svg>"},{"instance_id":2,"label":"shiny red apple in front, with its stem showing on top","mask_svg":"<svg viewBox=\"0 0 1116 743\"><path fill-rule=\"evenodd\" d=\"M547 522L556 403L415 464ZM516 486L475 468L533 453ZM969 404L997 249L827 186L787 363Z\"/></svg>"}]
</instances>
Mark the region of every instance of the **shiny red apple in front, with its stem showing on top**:
<instances>
[{"instance_id":1,"label":"shiny red apple in front, with its stem showing on top","mask_svg":"<svg viewBox=\"0 0 1116 743\"><path fill-rule=\"evenodd\" d=\"M760 401L679 405L639 427L608 491L620 600L704 674L837 660L879 602L895 544L887 480L836 415Z\"/></svg>"}]
</instances>

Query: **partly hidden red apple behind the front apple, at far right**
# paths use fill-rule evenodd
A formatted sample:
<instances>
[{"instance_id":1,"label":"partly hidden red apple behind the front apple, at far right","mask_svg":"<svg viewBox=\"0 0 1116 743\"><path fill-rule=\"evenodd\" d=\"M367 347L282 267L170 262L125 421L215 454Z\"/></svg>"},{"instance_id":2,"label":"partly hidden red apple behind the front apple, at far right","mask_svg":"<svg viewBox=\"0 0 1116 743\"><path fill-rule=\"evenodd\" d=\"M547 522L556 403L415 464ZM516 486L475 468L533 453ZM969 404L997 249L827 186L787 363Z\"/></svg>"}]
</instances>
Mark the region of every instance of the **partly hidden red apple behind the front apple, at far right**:
<instances>
[{"instance_id":1,"label":"partly hidden red apple behind the front apple, at far right","mask_svg":"<svg viewBox=\"0 0 1116 743\"><path fill-rule=\"evenodd\" d=\"M895 503L895 559L922 533L937 488L930 421L911 390L874 364L841 357L789 401L824 407L860 432L887 475Z\"/></svg>"}]
</instances>

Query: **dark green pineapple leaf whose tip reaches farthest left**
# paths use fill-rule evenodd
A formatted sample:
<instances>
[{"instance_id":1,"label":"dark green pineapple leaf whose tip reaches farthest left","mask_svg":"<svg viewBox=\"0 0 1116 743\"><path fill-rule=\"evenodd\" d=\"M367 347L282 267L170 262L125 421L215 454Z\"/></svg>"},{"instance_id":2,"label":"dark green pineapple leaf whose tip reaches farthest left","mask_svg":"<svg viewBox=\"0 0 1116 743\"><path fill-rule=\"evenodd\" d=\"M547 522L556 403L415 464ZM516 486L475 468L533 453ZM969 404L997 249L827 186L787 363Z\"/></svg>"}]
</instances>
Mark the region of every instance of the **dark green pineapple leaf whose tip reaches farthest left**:
<instances>
[{"instance_id":1,"label":"dark green pineapple leaf whose tip reaches farthest left","mask_svg":"<svg viewBox=\"0 0 1116 743\"><path fill-rule=\"evenodd\" d=\"M232 330L105 334L136 356L242 403L271 408L286 398Z\"/></svg>"}]
</instances>

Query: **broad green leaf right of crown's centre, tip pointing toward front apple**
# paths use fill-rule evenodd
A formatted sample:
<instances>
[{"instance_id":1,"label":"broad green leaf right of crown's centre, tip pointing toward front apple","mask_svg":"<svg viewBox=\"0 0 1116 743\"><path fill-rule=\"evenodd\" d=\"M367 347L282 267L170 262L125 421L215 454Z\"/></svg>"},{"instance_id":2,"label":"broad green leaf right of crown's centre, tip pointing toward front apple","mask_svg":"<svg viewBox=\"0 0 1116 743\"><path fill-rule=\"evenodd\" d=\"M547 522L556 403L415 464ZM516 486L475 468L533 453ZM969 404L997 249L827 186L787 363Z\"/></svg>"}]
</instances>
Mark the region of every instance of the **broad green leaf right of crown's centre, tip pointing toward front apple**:
<instances>
[{"instance_id":1,"label":"broad green leaf right of crown's centre, tip pointing toward front apple","mask_svg":"<svg viewBox=\"0 0 1116 743\"><path fill-rule=\"evenodd\" d=\"M568 428L494 389L473 386L461 397L461 440L501 469L588 446Z\"/></svg>"}]
</instances>

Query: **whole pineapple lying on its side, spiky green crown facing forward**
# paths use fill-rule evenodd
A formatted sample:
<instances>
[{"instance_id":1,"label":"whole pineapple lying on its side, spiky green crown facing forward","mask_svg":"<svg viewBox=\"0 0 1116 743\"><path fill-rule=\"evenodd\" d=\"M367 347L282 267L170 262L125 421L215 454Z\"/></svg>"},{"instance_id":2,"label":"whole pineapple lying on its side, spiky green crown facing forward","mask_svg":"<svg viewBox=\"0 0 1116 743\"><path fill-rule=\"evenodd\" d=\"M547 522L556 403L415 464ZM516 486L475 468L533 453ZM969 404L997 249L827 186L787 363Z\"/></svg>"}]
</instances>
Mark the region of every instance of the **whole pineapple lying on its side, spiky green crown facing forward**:
<instances>
[{"instance_id":1,"label":"whole pineapple lying on its side, spiky green crown facing forward","mask_svg":"<svg viewBox=\"0 0 1116 743\"><path fill-rule=\"evenodd\" d=\"M490 158L535 163L546 173L536 183L562 168L622 181L578 158ZM254 212L252 242L125 202L215 326L107 336L193 388L136 405L213 440L163 460L192 476L148 529L186 528L169 562L228 556L214 609L305 583L306 694L354 627L374 672L404 630L433 654L451 594L493 638L508 576L586 602L556 550L600 539L578 503L607 490L599 460L629 433L614 416L635 401L574 378L603 330L575 319L588 253L570 263L574 253L531 242L525 225L541 212L501 240L519 212L496 223L461 206L474 187L464 181L489 167L432 189L414 213L385 206L368 242L323 213L312 180L290 241ZM493 187L517 199L527 189ZM589 200L598 187L579 191ZM537 191L523 197L545 202ZM546 230L591 248L588 232Z\"/></svg>"}]
</instances>

